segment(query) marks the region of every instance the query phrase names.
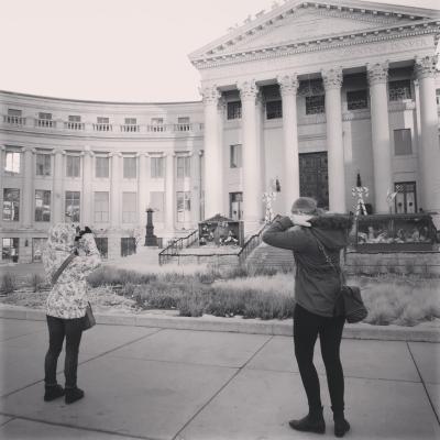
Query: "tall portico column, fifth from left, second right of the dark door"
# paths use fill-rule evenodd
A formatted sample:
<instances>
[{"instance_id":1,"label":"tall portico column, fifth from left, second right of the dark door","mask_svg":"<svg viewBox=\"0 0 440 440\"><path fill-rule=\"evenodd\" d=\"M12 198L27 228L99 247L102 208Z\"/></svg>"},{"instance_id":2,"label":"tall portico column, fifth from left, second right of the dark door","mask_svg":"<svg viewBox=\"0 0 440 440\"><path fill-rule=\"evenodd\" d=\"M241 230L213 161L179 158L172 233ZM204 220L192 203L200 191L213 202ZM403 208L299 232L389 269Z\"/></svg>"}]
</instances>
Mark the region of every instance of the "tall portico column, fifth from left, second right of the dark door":
<instances>
[{"instance_id":1,"label":"tall portico column, fifth from left, second right of the dark door","mask_svg":"<svg viewBox=\"0 0 440 440\"><path fill-rule=\"evenodd\" d=\"M389 142L388 62L369 64L366 66L372 120L372 144L374 166L374 211L387 213L386 201L388 190L393 190L392 152Z\"/></svg>"}]
</instances>

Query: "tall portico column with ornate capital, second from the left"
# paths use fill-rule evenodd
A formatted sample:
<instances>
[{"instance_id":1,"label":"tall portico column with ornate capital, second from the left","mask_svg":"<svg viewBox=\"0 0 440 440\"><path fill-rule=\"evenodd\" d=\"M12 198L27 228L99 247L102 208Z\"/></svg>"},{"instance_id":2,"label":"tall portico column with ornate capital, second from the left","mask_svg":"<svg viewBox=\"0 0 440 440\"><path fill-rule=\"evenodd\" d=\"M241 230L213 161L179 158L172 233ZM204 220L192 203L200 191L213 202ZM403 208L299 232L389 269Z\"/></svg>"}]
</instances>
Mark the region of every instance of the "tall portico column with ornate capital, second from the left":
<instances>
[{"instance_id":1,"label":"tall portico column with ornate capital, second from the left","mask_svg":"<svg viewBox=\"0 0 440 440\"><path fill-rule=\"evenodd\" d=\"M260 160L256 140L256 95L254 80L238 84L242 102L243 130L243 217L246 231L253 231L263 218L262 195L258 194Z\"/></svg>"}]
</instances>

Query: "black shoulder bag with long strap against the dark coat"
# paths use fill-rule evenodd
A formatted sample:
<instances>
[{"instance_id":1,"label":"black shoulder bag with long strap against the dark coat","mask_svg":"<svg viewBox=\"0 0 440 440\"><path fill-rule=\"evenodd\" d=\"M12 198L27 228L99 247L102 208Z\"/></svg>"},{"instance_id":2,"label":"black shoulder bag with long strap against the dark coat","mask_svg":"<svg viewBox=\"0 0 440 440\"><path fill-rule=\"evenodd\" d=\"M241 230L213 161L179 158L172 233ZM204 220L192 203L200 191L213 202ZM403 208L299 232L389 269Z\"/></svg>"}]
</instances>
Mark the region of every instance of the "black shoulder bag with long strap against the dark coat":
<instances>
[{"instance_id":1,"label":"black shoulder bag with long strap against the dark coat","mask_svg":"<svg viewBox=\"0 0 440 440\"><path fill-rule=\"evenodd\" d=\"M333 267L341 282L341 290L334 304L334 315L343 315L349 323L364 320L367 317L369 311L366 310L364 301L362 300L361 288L359 286L349 286L345 284L345 276L342 270L333 264L321 242L318 239L317 241L327 263Z\"/></svg>"}]
</instances>

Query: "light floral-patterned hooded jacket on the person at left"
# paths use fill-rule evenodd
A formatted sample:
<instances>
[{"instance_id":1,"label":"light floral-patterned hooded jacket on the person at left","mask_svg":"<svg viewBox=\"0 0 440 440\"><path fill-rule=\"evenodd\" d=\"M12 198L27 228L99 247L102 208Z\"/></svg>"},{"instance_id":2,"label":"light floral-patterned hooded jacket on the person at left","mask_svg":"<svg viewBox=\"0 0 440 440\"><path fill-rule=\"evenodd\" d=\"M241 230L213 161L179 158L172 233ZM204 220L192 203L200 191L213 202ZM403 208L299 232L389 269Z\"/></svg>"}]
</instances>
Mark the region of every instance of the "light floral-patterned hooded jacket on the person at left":
<instances>
[{"instance_id":1,"label":"light floral-patterned hooded jacket on the person at left","mask_svg":"<svg viewBox=\"0 0 440 440\"><path fill-rule=\"evenodd\" d=\"M76 230L72 224L58 223L51 228L43 251L43 265L47 279L74 252ZM87 282L101 263L101 257L92 234L84 234L79 240L78 256L59 275L46 301L46 314L56 318L74 319L86 315Z\"/></svg>"}]
</instances>

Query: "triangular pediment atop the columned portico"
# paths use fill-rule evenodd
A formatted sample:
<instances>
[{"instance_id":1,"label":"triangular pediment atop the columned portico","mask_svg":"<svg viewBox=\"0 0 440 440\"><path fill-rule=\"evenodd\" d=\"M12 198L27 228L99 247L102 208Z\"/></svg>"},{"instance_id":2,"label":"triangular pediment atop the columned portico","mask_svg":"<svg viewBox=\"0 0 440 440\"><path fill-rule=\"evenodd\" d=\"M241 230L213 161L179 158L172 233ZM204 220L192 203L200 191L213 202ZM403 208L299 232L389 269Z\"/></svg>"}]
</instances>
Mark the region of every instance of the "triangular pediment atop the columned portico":
<instances>
[{"instance_id":1,"label":"triangular pediment atop the columned portico","mask_svg":"<svg viewBox=\"0 0 440 440\"><path fill-rule=\"evenodd\" d=\"M437 34L440 12L361 1L287 1L267 13L249 18L241 26L190 54L198 68L212 64L267 57L277 51L320 50L344 38L399 37L405 32ZM243 58L243 61L244 61Z\"/></svg>"}]
</instances>

